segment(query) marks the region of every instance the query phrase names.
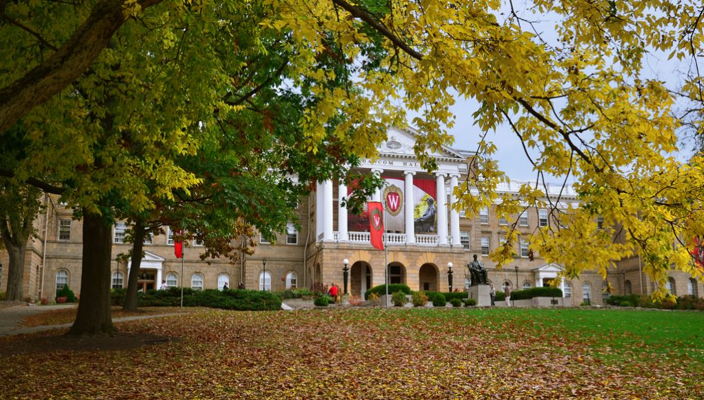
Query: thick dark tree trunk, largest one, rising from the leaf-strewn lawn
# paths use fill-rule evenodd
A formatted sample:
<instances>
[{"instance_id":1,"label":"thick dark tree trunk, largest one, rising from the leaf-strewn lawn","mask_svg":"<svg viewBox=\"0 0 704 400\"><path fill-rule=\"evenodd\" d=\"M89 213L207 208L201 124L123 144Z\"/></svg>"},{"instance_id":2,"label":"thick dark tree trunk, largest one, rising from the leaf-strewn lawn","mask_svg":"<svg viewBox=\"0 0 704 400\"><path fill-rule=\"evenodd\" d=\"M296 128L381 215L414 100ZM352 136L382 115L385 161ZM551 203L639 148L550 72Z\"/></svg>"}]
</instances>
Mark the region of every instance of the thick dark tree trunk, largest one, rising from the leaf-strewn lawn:
<instances>
[{"instance_id":1,"label":"thick dark tree trunk, largest one, rising from the leaf-strewn lawn","mask_svg":"<svg viewBox=\"0 0 704 400\"><path fill-rule=\"evenodd\" d=\"M110 315L111 228L100 215L84 211L80 301L76 320L67 335L115 332Z\"/></svg>"}]
</instances>

